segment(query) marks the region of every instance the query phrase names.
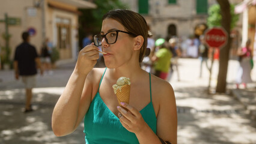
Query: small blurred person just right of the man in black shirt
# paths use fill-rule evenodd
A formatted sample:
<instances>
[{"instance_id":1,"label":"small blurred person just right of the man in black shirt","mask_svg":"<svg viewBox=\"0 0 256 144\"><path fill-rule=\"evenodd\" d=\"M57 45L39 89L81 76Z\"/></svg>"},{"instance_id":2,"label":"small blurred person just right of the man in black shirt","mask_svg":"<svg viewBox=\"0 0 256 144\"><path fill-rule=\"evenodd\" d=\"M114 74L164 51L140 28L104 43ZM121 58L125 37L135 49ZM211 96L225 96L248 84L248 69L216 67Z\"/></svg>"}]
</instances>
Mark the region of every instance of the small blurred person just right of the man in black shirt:
<instances>
[{"instance_id":1,"label":"small blurred person just right of the man in black shirt","mask_svg":"<svg viewBox=\"0 0 256 144\"><path fill-rule=\"evenodd\" d=\"M43 64L44 73L53 74L52 71L52 62L51 62L51 50L48 46L48 40L44 41L43 46L41 47L41 62Z\"/></svg>"}]
</instances>

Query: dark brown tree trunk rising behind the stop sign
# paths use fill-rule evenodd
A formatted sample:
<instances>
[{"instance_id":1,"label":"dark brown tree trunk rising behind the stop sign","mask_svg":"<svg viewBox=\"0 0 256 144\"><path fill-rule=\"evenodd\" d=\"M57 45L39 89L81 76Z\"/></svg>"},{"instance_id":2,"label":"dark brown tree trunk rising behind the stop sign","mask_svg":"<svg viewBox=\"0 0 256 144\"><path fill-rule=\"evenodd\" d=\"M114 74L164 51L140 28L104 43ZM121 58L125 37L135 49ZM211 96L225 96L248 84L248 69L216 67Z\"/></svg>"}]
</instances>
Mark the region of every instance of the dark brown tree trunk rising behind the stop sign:
<instances>
[{"instance_id":1,"label":"dark brown tree trunk rising behind the stop sign","mask_svg":"<svg viewBox=\"0 0 256 144\"><path fill-rule=\"evenodd\" d=\"M230 14L230 2L228 0L217 0L221 7L221 25L227 31L227 45L222 47L219 53L219 75L218 83L216 86L216 92L225 93L227 86L227 71L228 71L228 59L231 47L230 38L230 25L231 25L231 14Z\"/></svg>"}]
</instances>

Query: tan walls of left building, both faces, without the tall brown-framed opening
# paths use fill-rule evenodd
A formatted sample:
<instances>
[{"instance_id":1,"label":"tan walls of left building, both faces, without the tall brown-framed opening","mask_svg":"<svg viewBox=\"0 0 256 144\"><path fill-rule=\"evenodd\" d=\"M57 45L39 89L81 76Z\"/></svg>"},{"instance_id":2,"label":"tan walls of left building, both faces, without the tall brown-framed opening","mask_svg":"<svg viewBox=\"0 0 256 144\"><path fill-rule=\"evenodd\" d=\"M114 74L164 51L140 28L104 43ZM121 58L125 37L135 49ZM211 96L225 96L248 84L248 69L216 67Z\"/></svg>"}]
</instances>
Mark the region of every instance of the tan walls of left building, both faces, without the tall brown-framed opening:
<instances>
[{"instance_id":1,"label":"tan walls of left building, both faces, without the tall brown-framed opening","mask_svg":"<svg viewBox=\"0 0 256 144\"><path fill-rule=\"evenodd\" d=\"M34 0L0 0L0 19L4 19L4 13L8 13L9 17L20 19L20 25L9 26L8 31L11 34L10 47L13 59L16 46L22 43L22 32L28 31L29 28L35 29L35 35L31 37L30 43L40 53L44 38L49 38L56 47L58 42L58 34L56 27L56 18L61 17L70 20L70 45L67 49L59 49L62 59L75 59L78 50L78 8L73 5L63 4L61 2L44 0L41 5L36 5L39 1ZM49 4L54 7L49 7ZM44 14L42 5L44 5ZM44 19L43 19L44 16ZM44 28L44 33L43 33ZM0 23L0 35L5 33L4 23ZM5 41L0 37L0 46L5 46Z\"/></svg>"}]
</instances>

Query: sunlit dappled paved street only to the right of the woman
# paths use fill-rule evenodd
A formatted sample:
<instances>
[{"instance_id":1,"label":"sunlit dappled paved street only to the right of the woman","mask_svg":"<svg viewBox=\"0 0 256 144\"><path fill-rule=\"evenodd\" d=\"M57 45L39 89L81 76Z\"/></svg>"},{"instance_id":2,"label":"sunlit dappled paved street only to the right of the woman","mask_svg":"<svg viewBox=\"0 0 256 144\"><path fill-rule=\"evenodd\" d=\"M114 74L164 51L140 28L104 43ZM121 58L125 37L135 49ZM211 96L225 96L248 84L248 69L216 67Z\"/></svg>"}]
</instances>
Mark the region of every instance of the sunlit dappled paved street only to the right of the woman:
<instances>
[{"instance_id":1,"label":"sunlit dappled paved street only to the right of the woman","mask_svg":"<svg viewBox=\"0 0 256 144\"><path fill-rule=\"evenodd\" d=\"M180 60L181 81L175 76L171 80L178 107L178 143L256 143L255 121L246 116L242 104L230 95L207 94L209 74L198 78L198 60ZM215 62L212 86L216 86L217 66ZM237 67L237 61L229 62L228 88L234 88Z\"/></svg>"}]
</instances>

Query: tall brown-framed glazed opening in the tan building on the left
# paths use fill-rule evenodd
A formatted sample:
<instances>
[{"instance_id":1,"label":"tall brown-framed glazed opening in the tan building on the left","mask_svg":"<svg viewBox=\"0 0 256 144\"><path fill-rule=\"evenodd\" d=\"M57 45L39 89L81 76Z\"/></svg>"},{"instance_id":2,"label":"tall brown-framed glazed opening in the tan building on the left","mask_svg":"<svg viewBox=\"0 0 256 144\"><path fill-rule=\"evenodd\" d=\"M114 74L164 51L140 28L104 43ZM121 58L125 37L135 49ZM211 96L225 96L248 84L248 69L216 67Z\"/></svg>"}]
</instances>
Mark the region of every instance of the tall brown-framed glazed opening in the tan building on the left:
<instances>
[{"instance_id":1,"label":"tall brown-framed glazed opening in the tan building on the left","mask_svg":"<svg viewBox=\"0 0 256 144\"><path fill-rule=\"evenodd\" d=\"M59 49L69 49L70 48L70 20L69 19L56 19L58 43L57 47Z\"/></svg>"}]
</instances>

